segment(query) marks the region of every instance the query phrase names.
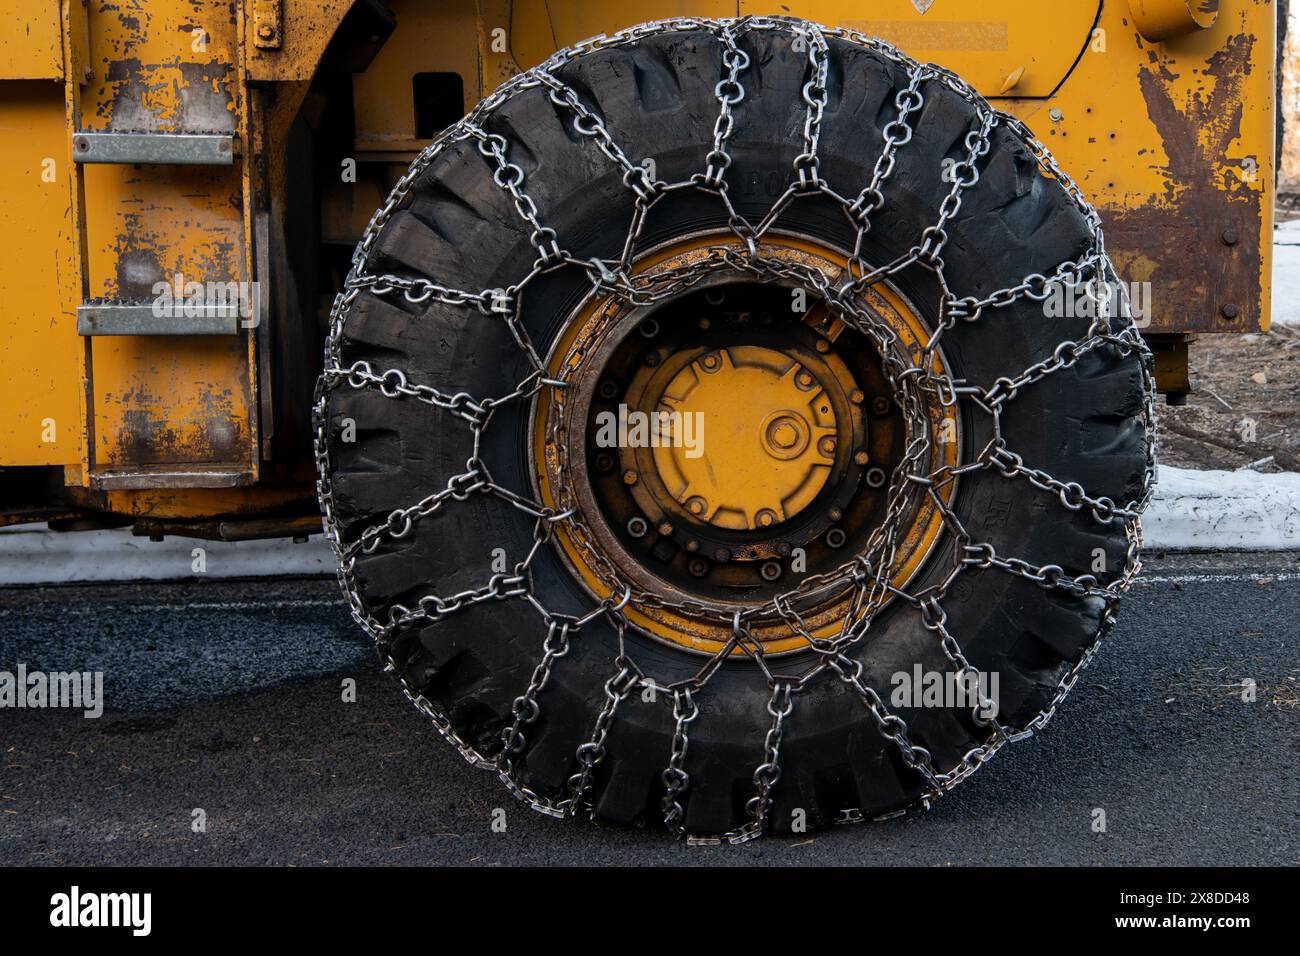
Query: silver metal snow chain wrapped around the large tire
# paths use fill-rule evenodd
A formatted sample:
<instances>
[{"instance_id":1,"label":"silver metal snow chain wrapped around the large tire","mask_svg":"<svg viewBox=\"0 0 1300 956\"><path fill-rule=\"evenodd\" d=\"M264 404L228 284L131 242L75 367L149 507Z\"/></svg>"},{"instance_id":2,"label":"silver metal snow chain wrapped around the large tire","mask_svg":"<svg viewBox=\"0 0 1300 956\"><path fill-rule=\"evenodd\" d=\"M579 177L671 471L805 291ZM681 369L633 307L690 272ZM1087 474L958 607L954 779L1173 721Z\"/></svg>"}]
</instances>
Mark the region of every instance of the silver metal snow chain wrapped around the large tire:
<instances>
[{"instance_id":1,"label":"silver metal snow chain wrapped around the large tire","mask_svg":"<svg viewBox=\"0 0 1300 956\"><path fill-rule=\"evenodd\" d=\"M560 78L560 73L576 59L595 51L632 46L650 36L675 33L705 33L715 38L722 47L722 70L714 88L718 116L703 156L702 172L694 173L682 182L668 183L655 179L645 165L633 161L627 155L610 134L603 117L592 105L582 101L581 95ZM741 43L748 35L758 33L784 36L794 49L800 49L800 44L802 44L807 52L807 66L806 79L801 88L801 101L805 107L802 148L794 159L785 191L772 203L763 220L755 225L741 216L732 204L727 172L733 163L729 143L737 126L734 111L745 99L745 73L750 66L750 55L741 47ZM818 156L822 121L829 100L827 83L829 39L862 46L906 75L906 86L900 88L893 98L893 116L883 127L881 151L876 157L871 177L853 198L840 196L828 186L822 177ZM871 217L887 202L885 187L894 170L898 152L913 139L913 117L924 105L931 87L941 87L968 101L975 111L975 122L963 139L965 151L961 159L953 160L946 170L936 170L936 181L948 181L950 186L939 204L935 222L926 226L911 250L894 261L868 263L863 258L863 243L871 228ZM555 230L543 224L537 203L528 193L525 170L510 160L510 142L499 134L486 131L489 129L488 121L502 104L525 90L543 90L550 101L571 117L569 122L581 140L594 146L620 170L623 186L633 196L633 215L618 260L581 260L564 251ZM963 194L976 189L982 161L992 150L993 130L1000 126L1031 151L1045 177L1054 179L1065 190L1087 221L1092 233L1092 245L1078 260L1061 263L1050 274L1026 276L1015 285L983 298L961 295L959 290L948 286L944 272L941 254L949 241L946 226L961 211ZM478 152L489 161L493 182L510 198L520 220L528 228L529 241L537 251L537 260L532 271L508 289L480 291L455 289L426 277L372 272L370 259L374 243L384 226L403 208L407 196L422 173L451 146L464 142L474 143ZM633 261L638 252L637 246L646 215L666 195L684 189L698 190L719 199L734 242L710 247L703 256L686 267L633 273ZM763 251L762 238L777 222L781 212L797 196L809 194L823 194L837 202L857 228L854 250L838 274L828 274L810 265L776 259ZM497 484L488 464L480 457L484 431L490 425L493 412L497 408L512 402L529 402L542 390L547 392L555 410L546 433L547 446L555 450L562 475L567 467L569 442L564 412L567 390L571 385L568 375L580 368L581 363L572 363L567 372L559 377L549 377L537 350L529 341L520 313L523 290L537 276L566 265L577 265L586 272L592 282L593 295L607 295L624 307L664 302L719 272L803 287L822 297L841 321L868 337L881 356L885 376L902 412L905 451L887 489L885 518L872 533L866 550L838 568L818 575L806 575L796 587L777 594L766 605L748 607L744 611L737 613L725 605L702 600L675 602L656 593L638 591L620 578L614 564L594 545L594 536L582 523L572 493L566 490L564 483L559 483L555 507L546 507ZM864 297L870 294L874 285L913 265L932 271L941 290L939 321L919 355L909 350L896 333L875 320L871 308L864 302ZM1022 299L1041 302L1046 299L1053 286L1071 291L1083 287L1096 306L1096 320L1084 337L1061 342L1052 355L1014 376L998 378L988 388L972 386L953 378L937 362L944 333L953 329L958 321L975 323L985 310L1005 308ZM1110 310L1109 294L1102 297L1098 291L1101 286L1121 289L1119 307L1115 312ZM448 393L436 385L412 382L407 373L399 368L377 371L365 360L343 364L341 351L347 316L356 298L363 293L380 298L400 295L411 304L437 302L451 308L474 310L485 316L484 321L503 321L520 350L526 355L533 371L507 394L474 397L463 392ZM581 358L585 354L584 350L590 345L592 342L575 343L573 355ZM1143 420L1150 438L1147 445L1147 464L1140 493L1135 499L1126 502L1091 496L1078 483L1061 481L1043 470L1027 466L1019 454L1006 446L1001 429L1002 408L1015 399L1020 389L1074 365L1089 351L1102 347L1112 349L1118 355L1136 354L1143 363L1147 392ZM746 805L750 819L737 830L720 836L692 839L706 842L724 839L742 843L771 829L771 806L774 790L781 778L780 747L786 721L792 719L798 693L814 680L823 679L823 675L826 675L824 679L838 679L854 689L880 735L897 748L904 763L916 773L923 786L918 804L930 806L937 796L987 762L1004 744L1018 740L1046 724L1057 705L1069 693L1078 680L1079 672L1087 666L1113 627L1119 596L1127 589L1140 568L1138 559L1141 545L1139 512L1150 497L1156 475L1154 386L1150 375L1150 352L1132 325L1131 310L1127 297L1123 295L1123 286L1115 282L1114 271L1106 259L1098 213L1083 196L1078 185L1060 169L1046 147L1034 139L1023 122L989 107L978 92L950 72L932 64L922 65L883 40L863 36L848 29L829 30L786 17L744 17L720 21L677 17L584 40L572 48L558 51L537 68L512 77L484 99L465 120L446 130L421 151L407 173L398 179L385 204L370 219L354 254L352 269L344 289L335 297L330 312L324 369L317 384L313 416L316 464L320 475L317 492L325 532L338 557L339 583L352 617L376 640L386 670L398 675L403 692L415 706L430 717L438 732L456 747L472 765L494 770L515 796L550 816L592 812L590 793L595 786L595 769L607 753L608 735L619 709L634 688L645 687L653 689L655 695L663 693L671 701L673 732L662 773L664 788L662 808L670 831L685 836L685 808L689 804L690 788L690 774L686 769L690 726L701 715L697 697L724 662L733 657L748 659L762 674L770 688L767 711L771 721L763 737L762 760L753 773L755 795ZM445 488L428 494L413 505L393 510L384 520L367 527L347 541L342 536L332 486L334 462L329 433L329 399L341 389L373 390L386 399L410 399L433 406L450 412L454 420L465 423L473 437L473 450L465 462L465 470L452 476ZM937 458L928 431L931 411L956 408L958 402L963 399L971 414L982 411L988 415L992 438L972 460L959 466L941 464L935 467ZM1113 580L1102 584L1093 575L1070 576L1061 566L1035 566L1015 557L998 554L989 542L976 541L940 492L942 489L952 490L953 483L961 475L980 470L1001 475L1008 480L1028 481L1035 488L1053 494L1065 509L1076 512L1087 511L1098 524L1109 525L1119 522L1126 538L1123 567L1114 575ZM434 518L450 502L465 501L474 494L499 498L510 507L517 509L533 519L533 541L526 554L515 562L510 574L493 575L482 588L467 589L450 596L430 593L421 597L415 607L393 605L386 610L384 618L374 617L355 579L358 561L386 544L406 538L419 522ZM890 584L898 567L900 532L905 527L907 515L922 501L927 499L936 506L942 524L952 537L952 567L937 584L909 593ZM566 528L571 540L584 549L597 575L608 588L608 593L616 596L598 602L582 617L551 611L533 588L532 562L542 548L550 545L555 528L560 525ZM1024 727L1009 727L987 717L989 701L978 693L972 719L976 724L985 727L988 735L967 750L954 766L940 771L933 765L931 752L913 740L907 723L892 713L880 695L866 682L862 661L850 657L848 652L861 644L876 614L885 604L901 601L915 609L926 630L936 636L946 659L953 665L957 679L967 683L974 680L978 672L967 659L957 637L948 630L948 615L942 601L962 574L968 574L972 568L989 567L1080 600L1086 597L1102 598L1101 627L1088 650L1061 679L1049 704ZM809 609L818 606L828 594L842 596L846 601L846 611L833 636L814 636L812 628L803 615ZM532 607L546 628L546 637L542 641L541 657L528 685L514 701L510 724L502 731L500 749L495 757L488 757L464 741L439 706L410 684L393 659L391 643L399 632L412 626L443 620L471 605L507 600L524 601ZM690 678L660 682L653 675L644 674L628 653L624 637L630 623L624 607L629 602L645 607L673 609L718 622L731 622L733 636ZM521 782L519 763L521 760L526 761L526 731L541 715L545 702L543 691L550 682L554 667L568 653L571 640L597 618L611 622L619 635L619 652L612 659L612 674L604 683L604 702L595 718L590 737L575 749L573 773L567 778L566 796L563 799L543 797ZM798 674L774 671L763 657L762 645L751 635L751 628L759 623L784 624L792 635L802 637L812 652L812 663ZM858 822L864 818L866 816L861 810L846 808L838 812L837 822Z\"/></svg>"}]
</instances>

